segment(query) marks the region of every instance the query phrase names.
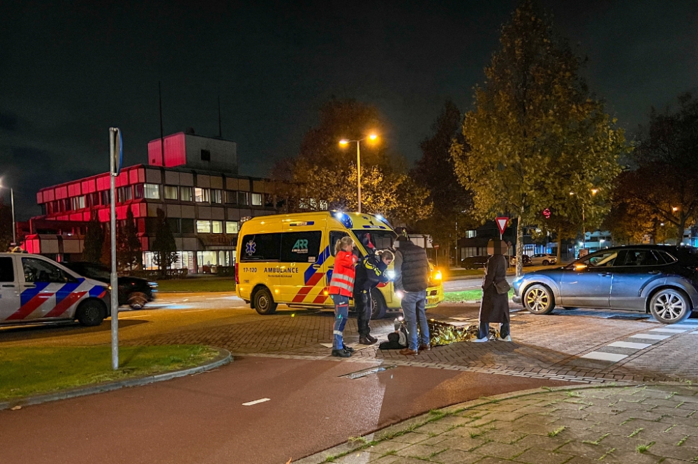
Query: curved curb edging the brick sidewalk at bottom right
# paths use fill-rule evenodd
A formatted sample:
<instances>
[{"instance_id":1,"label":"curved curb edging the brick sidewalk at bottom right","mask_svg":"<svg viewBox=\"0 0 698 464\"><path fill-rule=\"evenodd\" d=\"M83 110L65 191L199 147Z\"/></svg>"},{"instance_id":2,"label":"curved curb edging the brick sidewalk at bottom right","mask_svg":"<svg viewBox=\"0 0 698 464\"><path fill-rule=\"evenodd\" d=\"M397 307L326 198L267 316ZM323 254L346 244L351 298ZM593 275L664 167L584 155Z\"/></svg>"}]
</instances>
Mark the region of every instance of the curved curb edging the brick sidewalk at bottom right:
<instances>
[{"instance_id":1,"label":"curved curb edging the brick sidewalk at bottom right","mask_svg":"<svg viewBox=\"0 0 698 464\"><path fill-rule=\"evenodd\" d=\"M683 383L683 382L616 382L615 384L609 383L609 384L597 384L597 385L574 385L574 386L570 385L570 387L563 386L563 387L535 388L535 389L513 391L510 393L505 393L505 394L500 394L500 395L495 395L495 396L487 396L487 397L477 398L476 400L466 401L465 403L458 403L456 405L442 407L436 411L450 413L450 412L455 412L456 410L463 410L463 409L468 409L468 408L472 408L472 407L478 407L478 406L487 405L490 403L496 403L496 402L502 401L502 400L519 398L521 396L545 394L545 393L551 393L551 392L555 392L555 391L604 389L604 388L617 388L617 387L644 387L644 386L651 386L651 385L685 385L685 383ZM293 462L293 464L321 464L321 463L325 463L325 460L327 459L328 456L337 456L337 455L346 454L348 452L355 451L355 450L358 451L358 449L362 448L364 446L364 443L366 443L366 442L371 442L372 440L380 440L381 437L385 437L386 435L390 435L392 433L404 431L406 428L409 428L410 426L422 424L430 416L431 416L431 413L429 413L429 412L427 412L425 414L419 414L418 416L411 417L410 419L406 419L404 421L389 425L385 428L381 428L377 431L369 433L368 435L364 435L361 437L363 440L357 440L357 441L352 442L352 443L343 442L341 444L336 445L335 447L325 449L325 450L320 451L318 453L311 454L310 456L306 456L304 458L301 458L297 461L292 461L292 462Z\"/></svg>"}]
</instances>

